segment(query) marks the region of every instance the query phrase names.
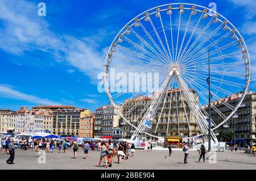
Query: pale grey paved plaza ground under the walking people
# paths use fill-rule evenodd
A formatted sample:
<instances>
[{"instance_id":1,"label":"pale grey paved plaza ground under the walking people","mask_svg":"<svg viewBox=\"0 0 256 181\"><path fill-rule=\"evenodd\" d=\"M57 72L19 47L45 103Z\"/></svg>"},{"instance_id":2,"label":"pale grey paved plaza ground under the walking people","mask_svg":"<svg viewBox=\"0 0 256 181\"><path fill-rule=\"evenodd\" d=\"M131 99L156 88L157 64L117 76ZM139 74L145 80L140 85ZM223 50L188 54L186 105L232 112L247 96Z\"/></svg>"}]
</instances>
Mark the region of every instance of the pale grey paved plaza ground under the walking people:
<instances>
[{"instance_id":1,"label":"pale grey paved plaza ground under the walking people","mask_svg":"<svg viewBox=\"0 0 256 181\"><path fill-rule=\"evenodd\" d=\"M6 159L9 155L0 155L0 169L105 169L105 162L102 167L98 168L98 160L100 158L100 151L89 151L87 159L83 157L83 150L79 150L77 158L74 159L72 150L68 150L67 153L61 153L55 150L55 153L46 153L46 163L39 163L38 158L40 155L30 150L15 150L15 164L9 165L6 163ZM129 159L122 159L121 164L117 163L117 157L113 159L113 166L108 169L256 169L256 157L251 154L245 154L243 151L237 152L216 152L216 163L209 163L206 159L205 163L202 161L197 162L199 154L197 151L190 151L188 156L189 164L183 163L183 151L172 151L171 157L168 157L168 151L163 150L135 150L135 157L129 157ZM209 155L206 154L205 158ZM213 162L213 161L211 161Z\"/></svg>"}]
</instances>

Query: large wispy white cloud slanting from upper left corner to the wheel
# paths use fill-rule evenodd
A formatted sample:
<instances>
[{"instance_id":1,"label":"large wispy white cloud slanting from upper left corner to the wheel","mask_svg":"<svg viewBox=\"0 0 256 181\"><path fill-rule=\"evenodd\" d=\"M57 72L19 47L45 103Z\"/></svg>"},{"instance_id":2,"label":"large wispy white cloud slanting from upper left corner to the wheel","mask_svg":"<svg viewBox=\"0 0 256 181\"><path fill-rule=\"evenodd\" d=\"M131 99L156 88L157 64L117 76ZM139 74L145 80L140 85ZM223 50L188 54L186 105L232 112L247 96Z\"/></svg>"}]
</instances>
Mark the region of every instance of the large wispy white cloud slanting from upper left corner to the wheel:
<instances>
[{"instance_id":1,"label":"large wispy white cloud slanting from upper left corner to the wheel","mask_svg":"<svg viewBox=\"0 0 256 181\"><path fill-rule=\"evenodd\" d=\"M105 53L98 50L94 38L57 35L49 30L48 23L37 11L34 3L0 1L0 48L17 56L42 50L52 54L57 62L68 63L92 81L96 80L97 74L103 71Z\"/></svg>"}]
</instances>

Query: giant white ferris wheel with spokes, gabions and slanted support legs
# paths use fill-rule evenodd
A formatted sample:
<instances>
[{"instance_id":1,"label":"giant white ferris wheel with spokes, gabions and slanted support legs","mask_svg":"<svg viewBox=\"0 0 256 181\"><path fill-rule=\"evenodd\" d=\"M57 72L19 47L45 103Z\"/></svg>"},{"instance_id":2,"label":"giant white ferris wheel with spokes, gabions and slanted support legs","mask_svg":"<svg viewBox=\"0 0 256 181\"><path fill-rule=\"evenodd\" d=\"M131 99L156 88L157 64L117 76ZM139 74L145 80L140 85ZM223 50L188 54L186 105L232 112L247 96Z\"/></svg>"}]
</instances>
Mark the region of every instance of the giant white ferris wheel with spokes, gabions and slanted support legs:
<instances>
[{"instance_id":1,"label":"giant white ferris wheel with spokes, gabions and slanted support legs","mask_svg":"<svg viewBox=\"0 0 256 181\"><path fill-rule=\"evenodd\" d=\"M192 113L201 135L207 140L210 81L212 112L221 117L218 124L212 121L211 137L218 142L213 131L240 107L251 82L250 69L245 41L228 19L207 7L170 3L142 12L119 31L106 56L104 81L113 106L123 121L134 128L131 140L141 133L159 137L152 134L154 131L148 126L156 115L166 116L168 124L170 116L179 115L178 109L176 113L171 112L174 102L170 96L177 95L168 92L174 90L180 90L181 105ZM113 76L117 79L121 75L134 76L131 73L141 76L118 83L110 81ZM152 75L152 79L157 78L157 81L148 86L148 79L142 81L142 74ZM236 92L240 92L240 96L234 95ZM235 96L237 101L233 104L226 102L226 96ZM119 106L135 99L137 101L126 110L119 109ZM228 115L214 106L214 101L228 110ZM170 107L170 111L163 113L164 107ZM131 113L138 108L138 115L131 120ZM188 116L187 111L185 117ZM161 124L159 120L155 123L156 127ZM167 134L168 129L171 128L167 125Z\"/></svg>"}]
</instances>

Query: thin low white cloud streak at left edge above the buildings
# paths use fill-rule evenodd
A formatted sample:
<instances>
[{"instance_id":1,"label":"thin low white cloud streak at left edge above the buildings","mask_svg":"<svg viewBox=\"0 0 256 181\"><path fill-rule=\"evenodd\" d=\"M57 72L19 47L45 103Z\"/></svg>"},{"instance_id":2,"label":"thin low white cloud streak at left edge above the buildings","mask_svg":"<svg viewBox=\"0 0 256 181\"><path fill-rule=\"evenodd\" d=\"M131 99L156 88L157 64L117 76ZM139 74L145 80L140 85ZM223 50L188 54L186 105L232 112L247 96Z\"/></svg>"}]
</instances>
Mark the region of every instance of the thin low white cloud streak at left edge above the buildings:
<instances>
[{"instance_id":1,"label":"thin low white cloud streak at left edge above the buildings","mask_svg":"<svg viewBox=\"0 0 256 181\"><path fill-rule=\"evenodd\" d=\"M46 105L58 105L59 103L53 102L48 99L38 98L34 95L25 94L23 92L14 90L13 87L9 85L0 85L0 96L10 99L26 100L31 103L36 104L46 104Z\"/></svg>"}]
</instances>

